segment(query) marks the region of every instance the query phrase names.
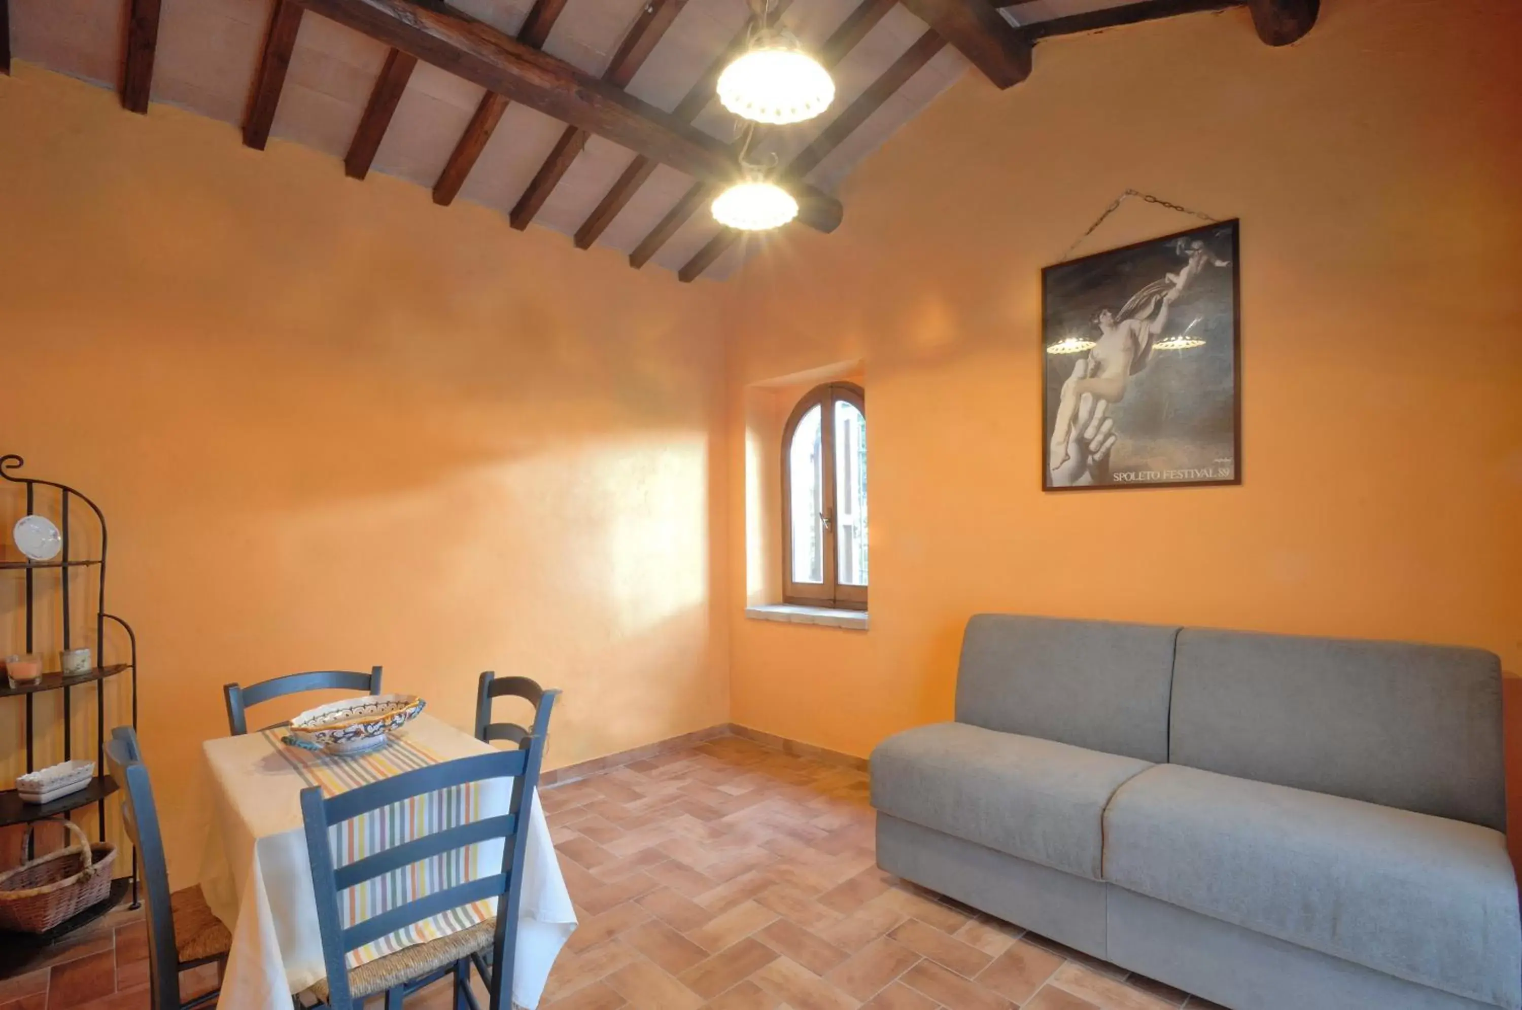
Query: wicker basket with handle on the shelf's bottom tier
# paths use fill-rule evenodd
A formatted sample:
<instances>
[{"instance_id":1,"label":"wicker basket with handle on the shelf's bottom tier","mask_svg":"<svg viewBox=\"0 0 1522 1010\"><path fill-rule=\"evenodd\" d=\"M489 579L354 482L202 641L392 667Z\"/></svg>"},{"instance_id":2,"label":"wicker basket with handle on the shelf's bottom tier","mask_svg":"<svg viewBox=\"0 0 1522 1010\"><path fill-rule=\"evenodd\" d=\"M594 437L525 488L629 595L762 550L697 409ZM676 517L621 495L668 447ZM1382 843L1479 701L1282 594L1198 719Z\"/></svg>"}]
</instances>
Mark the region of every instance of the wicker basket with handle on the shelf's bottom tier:
<instances>
[{"instance_id":1,"label":"wicker basket with handle on the shelf's bottom tier","mask_svg":"<svg viewBox=\"0 0 1522 1010\"><path fill-rule=\"evenodd\" d=\"M26 831L23 856L37 823ZM56 818L56 823L75 837L76 844L0 873L0 929L47 932L110 897L116 846L91 846L79 824L67 817Z\"/></svg>"}]
</instances>

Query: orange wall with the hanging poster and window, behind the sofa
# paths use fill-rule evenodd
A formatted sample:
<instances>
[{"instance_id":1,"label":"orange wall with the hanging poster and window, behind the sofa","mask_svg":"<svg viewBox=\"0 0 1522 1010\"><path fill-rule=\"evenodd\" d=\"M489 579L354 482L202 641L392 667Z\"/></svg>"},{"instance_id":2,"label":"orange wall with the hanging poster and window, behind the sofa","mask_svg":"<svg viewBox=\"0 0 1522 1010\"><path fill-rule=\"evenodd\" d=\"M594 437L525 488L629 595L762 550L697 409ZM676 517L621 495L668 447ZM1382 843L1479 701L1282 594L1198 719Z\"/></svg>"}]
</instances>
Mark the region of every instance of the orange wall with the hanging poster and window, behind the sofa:
<instances>
[{"instance_id":1,"label":"orange wall with the hanging poster and window, behind the sofa","mask_svg":"<svg viewBox=\"0 0 1522 1010\"><path fill-rule=\"evenodd\" d=\"M734 718L852 754L950 718L983 610L1478 645L1522 672L1522 23L1329 0L1055 40L866 161L738 278L741 391L861 359L872 627L738 619ZM1126 187L1242 219L1240 487L1043 494L1040 269ZM1186 228L1131 204L1082 251ZM1082 252L1081 251L1081 252Z\"/></svg>"}]
</instances>

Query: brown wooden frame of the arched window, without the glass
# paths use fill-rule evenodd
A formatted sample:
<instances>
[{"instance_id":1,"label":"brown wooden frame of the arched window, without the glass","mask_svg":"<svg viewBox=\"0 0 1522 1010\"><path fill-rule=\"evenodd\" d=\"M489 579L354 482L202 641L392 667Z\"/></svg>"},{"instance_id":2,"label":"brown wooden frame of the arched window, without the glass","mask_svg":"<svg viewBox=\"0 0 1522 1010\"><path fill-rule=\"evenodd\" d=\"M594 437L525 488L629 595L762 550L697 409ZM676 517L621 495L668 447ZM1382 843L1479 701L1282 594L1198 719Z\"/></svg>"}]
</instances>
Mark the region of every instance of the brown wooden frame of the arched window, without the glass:
<instances>
[{"instance_id":1,"label":"brown wooden frame of the arched window, without the glass","mask_svg":"<svg viewBox=\"0 0 1522 1010\"><path fill-rule=\"evenodd\" d=\"M868 586L842 586L836 578L840 545L836 540L836 402L843 400L866 417L866 392L854 382L826 382L810 389L782 426L782 602L833 610L866 610ZM793 581L793 435L799 421L820 408L820 472L823 475L823 583ZM869 548L871 549L871 548ZM871 583L871 575L868 576Z\"/></svg>"}]
</instances>

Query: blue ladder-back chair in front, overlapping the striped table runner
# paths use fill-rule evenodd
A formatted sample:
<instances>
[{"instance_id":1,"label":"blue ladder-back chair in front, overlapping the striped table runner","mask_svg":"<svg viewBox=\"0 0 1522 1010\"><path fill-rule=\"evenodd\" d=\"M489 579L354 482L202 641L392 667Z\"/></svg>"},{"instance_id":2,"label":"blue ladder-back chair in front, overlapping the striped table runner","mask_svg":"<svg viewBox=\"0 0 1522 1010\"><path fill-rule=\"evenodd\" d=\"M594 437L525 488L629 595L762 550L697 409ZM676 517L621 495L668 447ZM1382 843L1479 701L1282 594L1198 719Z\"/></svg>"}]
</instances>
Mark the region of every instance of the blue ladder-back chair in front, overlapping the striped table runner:
<instances>
[{"instance_id":1,"label":"blue ladder-back chair in front, overlapping the striped table runner","mask_svg":"<svg viewBox=\"0 0 1522 1010\"><path fill-rule=\"evenodd\" d=\"M406 996L452 973L455 1010L479 1010L475 993L470 990L470 964L475 961L492 995L492 1010L511 1008L517 907L522 891L524 852L528 843L528 800L539 783L539 765L543 761L543 738L530 736L519 750L476 754L429 765L339 792L332 799L324 799L318 786L301 791L301 817L306 823L306 846L312 864L312 893L317 897L323 961L327 969L327 978L310 990L320 1004L330 1007L330 1010L355 1010L367 996L384 992L387 1010L400 1010ZM347 865L333 865L333 853L329 846L330 826L408 797L466 782L504 777L513 779L507 814L446 827L391 846ZM498 838L504 843L499 873L417 897L347 929L341 925L341 891L412 862ZM495 923L482 922L447 937L376 958L353 970L345 969L345 957L350 951L451 908L489 897L498 899Z\"/></svg>"}]
</instances>

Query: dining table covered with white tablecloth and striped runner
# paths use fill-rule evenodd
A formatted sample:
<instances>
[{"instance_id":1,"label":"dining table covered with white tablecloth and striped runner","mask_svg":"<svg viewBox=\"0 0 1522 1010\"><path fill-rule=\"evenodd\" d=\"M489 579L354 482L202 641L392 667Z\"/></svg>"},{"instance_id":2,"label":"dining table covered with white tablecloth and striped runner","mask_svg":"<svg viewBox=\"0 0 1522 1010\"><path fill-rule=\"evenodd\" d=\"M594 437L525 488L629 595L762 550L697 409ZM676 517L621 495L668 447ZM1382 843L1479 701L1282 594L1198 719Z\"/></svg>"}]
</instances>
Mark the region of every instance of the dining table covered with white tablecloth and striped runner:
<instances>
[{"instance_id":1,"label":"dining table covered with white tablecloth and striped runner","mask_svg":"<svg viewBox=\"0 0 1522 1010\"><path fill-rule=\"evenodd\" d=\"M202 745L210 777L210 831L201 859L201 890L207 905L233 934L222 977L221 1005L239 1010L291 1010L294 993L324 978L323 942L301 821L301 789L321 786L333 796L411 768L489 753L478 741L428 713L394 733L387 745L358 754L314 753L285 742L286 727L209 739ZM362 815L332 835L342 862L380 847L409 841L437 829L441 817L479 820L508 812L511 780L492 779L458 786L464 792L425 794L406 811ZM447 796L446 796L447 794ZM460 814L461 800L467 812ZM380 818L361 823L364 817ZM387 844L380 844L385 841ZM422 897L463 879L501 872L502 843L458 850L454 859L406 875L403 885L384 878L344 893L344 925L379 914L402 900ZM577 926L571 894L537 802L530 803L528 840L519 887L519 922L511 999L533 1010L560 948ZM365 890L371 888L371 890ZM400 897L399 897L400 894ZM478 902L417 923L408 931L353 951L349 967L396 952L411 943L447 935L496 914L496 899Z\"/></svg>"}]
</instances>

